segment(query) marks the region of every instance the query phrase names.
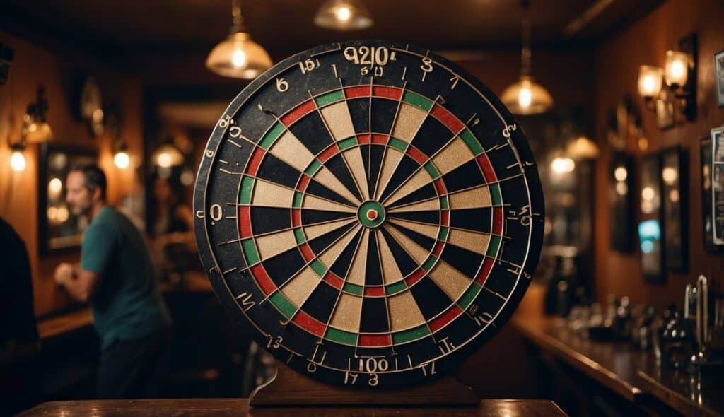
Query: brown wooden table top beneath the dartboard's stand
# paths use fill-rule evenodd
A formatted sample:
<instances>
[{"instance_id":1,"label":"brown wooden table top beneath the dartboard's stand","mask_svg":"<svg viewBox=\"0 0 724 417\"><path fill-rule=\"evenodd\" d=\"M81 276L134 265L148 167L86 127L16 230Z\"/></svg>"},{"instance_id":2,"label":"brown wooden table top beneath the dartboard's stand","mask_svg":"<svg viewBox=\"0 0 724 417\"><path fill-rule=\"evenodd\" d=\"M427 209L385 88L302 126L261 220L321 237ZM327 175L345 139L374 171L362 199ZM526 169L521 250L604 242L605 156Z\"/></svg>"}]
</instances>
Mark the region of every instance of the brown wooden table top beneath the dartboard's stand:
<instances>
[{"instance_id":1,"label":"brown wooden table top beneath the dartboard's stand","mask_svg":"<svg viewBox=\"0 0 724 417\"><path fill-rule=\"evenodd\" d=\"M564 417L547 400L481 400L466 408L249 408L245 398L54 401L26 410L20 416L442 416Z\"/></svg>"}]
</instances>

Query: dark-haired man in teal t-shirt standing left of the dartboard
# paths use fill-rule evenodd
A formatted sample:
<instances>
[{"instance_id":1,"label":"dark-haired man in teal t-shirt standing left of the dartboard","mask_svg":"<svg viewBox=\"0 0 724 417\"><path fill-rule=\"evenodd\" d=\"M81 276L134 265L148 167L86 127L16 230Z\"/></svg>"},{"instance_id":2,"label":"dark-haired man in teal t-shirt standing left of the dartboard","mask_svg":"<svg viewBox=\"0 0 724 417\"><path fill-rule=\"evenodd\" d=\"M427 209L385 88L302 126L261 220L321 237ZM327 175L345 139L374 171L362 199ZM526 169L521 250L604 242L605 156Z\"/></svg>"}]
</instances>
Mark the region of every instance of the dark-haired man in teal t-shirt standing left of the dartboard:
<instances>
[{"instance_id":1,"label":"dark-haired man in teal t-shirt standing left of the dartboard","mask_svg":"<svg viewBox=\"0 0 724 417\"><path fill-rule=\"evenodd\" d=\"M168 363L171 320L138 229L106 205L106 176L95 165L74 167L66 201L90 219L80 265L60 264L55 279L77 300L90 303L101 338L98 396L153 397Z\"/></svg>"}]
</instances>

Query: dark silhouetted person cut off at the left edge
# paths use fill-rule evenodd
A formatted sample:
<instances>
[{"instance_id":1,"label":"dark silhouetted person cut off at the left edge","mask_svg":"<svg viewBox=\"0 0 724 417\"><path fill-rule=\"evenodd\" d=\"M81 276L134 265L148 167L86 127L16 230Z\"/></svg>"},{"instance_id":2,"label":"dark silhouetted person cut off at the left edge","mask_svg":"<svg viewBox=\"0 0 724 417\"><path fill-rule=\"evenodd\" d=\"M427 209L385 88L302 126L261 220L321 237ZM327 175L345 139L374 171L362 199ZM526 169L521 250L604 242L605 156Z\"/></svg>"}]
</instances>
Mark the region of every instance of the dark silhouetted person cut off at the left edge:
<instances>
[{"instance_id":1,"label":"dark silhouetted person cut off at the left edge","mask_svg":"<svg viewBox=\"0 0 724 417\"><path fill-rule=\"evenodd\" d=\"M30 259L20 236L0 218L0 384L5 400L0 415L17 413L38 402L40 337L33 312Z\"/></svg>"}]
</instances>

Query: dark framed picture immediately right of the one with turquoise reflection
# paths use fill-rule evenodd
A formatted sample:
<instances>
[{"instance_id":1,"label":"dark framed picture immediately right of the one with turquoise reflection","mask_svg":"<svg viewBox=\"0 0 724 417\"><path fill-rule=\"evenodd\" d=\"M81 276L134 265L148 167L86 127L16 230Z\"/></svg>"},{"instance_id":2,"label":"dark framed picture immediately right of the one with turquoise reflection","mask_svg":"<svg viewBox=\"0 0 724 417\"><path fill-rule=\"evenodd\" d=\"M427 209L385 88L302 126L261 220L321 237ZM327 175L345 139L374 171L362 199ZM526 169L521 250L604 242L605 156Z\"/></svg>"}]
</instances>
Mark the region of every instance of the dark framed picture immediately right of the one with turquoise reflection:
<instances>
[{"instance_id":1,"label":"dark framed picture immediately right of the one with turquoise reflection","mask_svg":"<svg viewBox=\"0 0 724 417\"><path fill-rule=\"evenodd\" d=\"M686 271L689 254L686 172L686 153L679 146L661 152L664 259L667 269L678 272Z\"/></svg>"}]
</instances>

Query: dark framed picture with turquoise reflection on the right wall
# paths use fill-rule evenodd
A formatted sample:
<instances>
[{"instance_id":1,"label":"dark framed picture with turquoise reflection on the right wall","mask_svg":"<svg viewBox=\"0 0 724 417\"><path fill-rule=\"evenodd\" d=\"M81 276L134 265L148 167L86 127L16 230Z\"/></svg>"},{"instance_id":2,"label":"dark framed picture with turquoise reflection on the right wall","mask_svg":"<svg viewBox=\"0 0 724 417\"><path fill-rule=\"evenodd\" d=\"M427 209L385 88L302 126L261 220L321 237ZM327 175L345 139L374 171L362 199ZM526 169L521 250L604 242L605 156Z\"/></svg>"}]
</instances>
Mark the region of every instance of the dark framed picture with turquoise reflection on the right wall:
<instances>
[{"instance_id":1,"label":"dark framed picture with turquoise reflection on the right wall","mask_svg":"<svg viewBox=\"0 0 724 417\"><path fill-rule=\"evenodd\" d=\"M657 153L641 158L641 222L639 248L641 271L647 282L664 282L663 224L661 216L661 163Z\"/></svg>"}]
</instances>

